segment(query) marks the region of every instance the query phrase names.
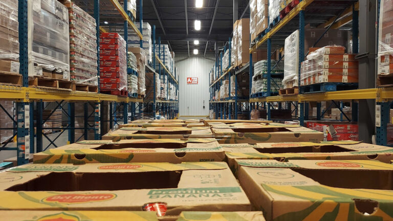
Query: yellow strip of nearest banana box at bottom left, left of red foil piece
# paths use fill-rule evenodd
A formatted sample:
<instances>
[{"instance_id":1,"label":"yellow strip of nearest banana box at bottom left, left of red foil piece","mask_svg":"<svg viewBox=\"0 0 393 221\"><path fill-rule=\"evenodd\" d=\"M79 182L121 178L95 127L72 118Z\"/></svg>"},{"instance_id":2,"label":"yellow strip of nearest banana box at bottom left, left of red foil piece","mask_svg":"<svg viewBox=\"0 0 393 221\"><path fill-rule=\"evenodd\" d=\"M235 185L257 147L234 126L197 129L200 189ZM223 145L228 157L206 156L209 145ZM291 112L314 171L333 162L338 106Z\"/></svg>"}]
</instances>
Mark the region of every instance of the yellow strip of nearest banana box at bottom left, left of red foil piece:
<instances>
[{"instance_id":1,"label":"yellow strip of nearest banana box at bottom left, left of red foil piece","mask_svg":"<svg viewBox=\"0 0 393 221\"><path fill-rule=\"evenodd\" d=\"M1 211L0 221L158 221L147 211Z\"/></svg>"}]
</instances>

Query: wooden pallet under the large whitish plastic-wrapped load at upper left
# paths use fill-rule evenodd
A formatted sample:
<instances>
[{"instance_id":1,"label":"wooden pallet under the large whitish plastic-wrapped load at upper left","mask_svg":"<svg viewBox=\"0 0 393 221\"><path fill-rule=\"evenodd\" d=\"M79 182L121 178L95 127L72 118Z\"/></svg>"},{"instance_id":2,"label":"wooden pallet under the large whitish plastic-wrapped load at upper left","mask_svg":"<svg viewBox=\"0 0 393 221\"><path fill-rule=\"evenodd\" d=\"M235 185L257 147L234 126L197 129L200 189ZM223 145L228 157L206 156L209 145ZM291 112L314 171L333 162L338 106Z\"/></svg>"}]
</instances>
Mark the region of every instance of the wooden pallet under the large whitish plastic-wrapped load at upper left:
<instances>
[{"instance_id":1,"label":"wooden pallet under the large whitish plastic-wrapped load at upper left","mask_svg":"<svg viewBox=\"0 0 393 221\"><path fill-rule=\"evenodd\" d=\"M73 91L73 81L34 76L29 80L29 87Z\"/></svg>"}]
</instances>

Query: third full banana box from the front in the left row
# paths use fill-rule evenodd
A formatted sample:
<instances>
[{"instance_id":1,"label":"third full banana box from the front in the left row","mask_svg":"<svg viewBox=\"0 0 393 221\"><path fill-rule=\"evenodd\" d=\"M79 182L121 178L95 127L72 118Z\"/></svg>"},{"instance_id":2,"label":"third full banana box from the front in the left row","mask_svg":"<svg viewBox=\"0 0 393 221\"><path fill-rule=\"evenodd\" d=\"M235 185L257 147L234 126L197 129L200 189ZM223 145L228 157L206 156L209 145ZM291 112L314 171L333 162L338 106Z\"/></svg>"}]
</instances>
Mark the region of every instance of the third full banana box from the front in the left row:
<instances>
[{"instance_id":1,"label":"third full banana box from the front in the left row","mask_svg":"<svg viewBox=\"0 0 393 221\"><path fill-rule=\"evenodd\" d=\"M103 140L213 138L209 127L122 127L109 131Z\"/></svg>"}]
</instances>

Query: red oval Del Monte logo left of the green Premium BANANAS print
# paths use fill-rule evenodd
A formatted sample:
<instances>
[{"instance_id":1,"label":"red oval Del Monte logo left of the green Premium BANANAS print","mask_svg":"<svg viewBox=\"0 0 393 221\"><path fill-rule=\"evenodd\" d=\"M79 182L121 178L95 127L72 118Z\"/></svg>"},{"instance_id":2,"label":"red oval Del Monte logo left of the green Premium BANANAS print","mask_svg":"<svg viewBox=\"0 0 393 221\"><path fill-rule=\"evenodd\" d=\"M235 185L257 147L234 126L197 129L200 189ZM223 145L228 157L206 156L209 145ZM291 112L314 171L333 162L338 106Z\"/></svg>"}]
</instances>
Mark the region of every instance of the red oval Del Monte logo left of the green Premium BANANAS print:
<instances>
[{"instance_id":1,"label":"red oval Del Monte logo left of the green Premium BANANAS print","mask_svg":"<svg viewBox=\"0 0 393 221\"><path fill-rule=\"evenodd\" d=\"M42 202L46 203L63 203L63 204L78 204L88 202L100 202L108 201L116 198L116 194L113 193L80 193L80 194L58 194L48 196L42 199Z\"/></svg>"}]
</instances>

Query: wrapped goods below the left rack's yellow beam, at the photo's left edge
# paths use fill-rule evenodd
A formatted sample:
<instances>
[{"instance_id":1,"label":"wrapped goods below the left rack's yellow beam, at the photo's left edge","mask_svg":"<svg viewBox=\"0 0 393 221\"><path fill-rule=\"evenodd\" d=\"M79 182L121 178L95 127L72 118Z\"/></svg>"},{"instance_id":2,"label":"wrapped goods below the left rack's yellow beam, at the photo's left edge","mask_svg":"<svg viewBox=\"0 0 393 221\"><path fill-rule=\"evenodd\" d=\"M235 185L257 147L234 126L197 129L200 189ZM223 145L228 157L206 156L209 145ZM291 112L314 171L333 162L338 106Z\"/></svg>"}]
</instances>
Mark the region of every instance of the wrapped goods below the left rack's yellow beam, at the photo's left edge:
<instances>
[{"instance_id":1,"label":"wrapped goods below the left rack's yellow beam, at the photo's left edge","mask_svg":"<svg viewBox=\"0 0 393 221\"><path fill-rule=\"evenodd\" d=\"M11 115L14 116L14 101L0 101L0 104L4 107L5 110ZM14 135L14 122L12 119L0 109L0 127L1 128L11 128L11 129L2 129L0 130L0 143L4 143L8 141Z\"/></svg>"}]
</instances>

